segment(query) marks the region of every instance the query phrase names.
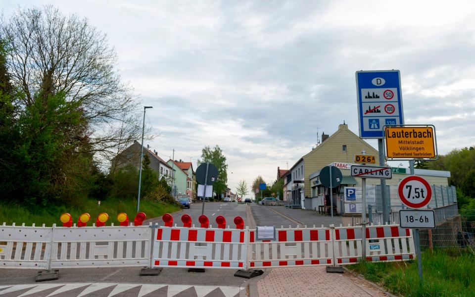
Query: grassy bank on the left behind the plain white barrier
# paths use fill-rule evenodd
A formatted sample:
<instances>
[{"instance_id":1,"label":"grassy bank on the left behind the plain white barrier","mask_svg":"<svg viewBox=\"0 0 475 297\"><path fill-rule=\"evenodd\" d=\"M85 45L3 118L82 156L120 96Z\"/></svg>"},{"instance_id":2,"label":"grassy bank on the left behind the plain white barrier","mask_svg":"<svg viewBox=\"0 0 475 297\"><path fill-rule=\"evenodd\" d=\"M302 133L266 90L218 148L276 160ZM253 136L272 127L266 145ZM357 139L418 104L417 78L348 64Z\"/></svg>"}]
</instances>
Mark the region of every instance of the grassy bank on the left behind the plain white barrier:
<instances>
[{"instance_id":1,"label":"grassy bank on the left behind the plain white barrier","mask_svg":"<svg viewBox=\"0 0 475 297\"><path fill-rule=\"evenodd\" d=\"M97 215L101 212L106 212L109 215L109 220L106 222L107 226L111 223L118 225L117 214L125 212L129 216L129 222L134 222L135 215L137 214L137 201L120 201L118 199L107 199L100 201L100 207L97 206L97 200L86 200L83 205L78 206L49 206L45 208L27 209L24 206L15 204L0 204L0 224L6 222L7 225L16 223L21 225L25 223L26 226L31 226L35 223L36 226L46 224L50 227L52 224L62 226L59 216L62 213L69 213L73 218L73 223L77 223L79 216L87 212L91 215L91 220L88 222L88 226L95 223ZM148 218L161 216L164 213L172 213L180 210L179 206L162 204L151 202L147 200L140 201L140 210L147 215Z\"/></svg>"}]
</instances>

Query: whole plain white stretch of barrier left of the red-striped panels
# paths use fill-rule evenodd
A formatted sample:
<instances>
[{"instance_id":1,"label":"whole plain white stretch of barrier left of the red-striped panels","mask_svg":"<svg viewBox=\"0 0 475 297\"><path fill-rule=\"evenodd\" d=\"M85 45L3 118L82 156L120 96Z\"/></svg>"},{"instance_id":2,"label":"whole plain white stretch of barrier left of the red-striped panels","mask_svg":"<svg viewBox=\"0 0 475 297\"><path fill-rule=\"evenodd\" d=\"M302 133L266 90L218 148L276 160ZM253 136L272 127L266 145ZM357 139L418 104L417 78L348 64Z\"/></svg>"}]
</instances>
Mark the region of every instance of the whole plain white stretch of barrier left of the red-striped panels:
<instances>
[{"instance_id":1,"label":"whole plain white stretch of barrier left of the red-striped panels","mask_svg":"<svg viewBox=\"0 0 475 297\"><path fill-rule=\"evenodd\" d=\"M0 267L55 269L147 266L149 226L0 228Z\"/></svg>"}]
</instances>

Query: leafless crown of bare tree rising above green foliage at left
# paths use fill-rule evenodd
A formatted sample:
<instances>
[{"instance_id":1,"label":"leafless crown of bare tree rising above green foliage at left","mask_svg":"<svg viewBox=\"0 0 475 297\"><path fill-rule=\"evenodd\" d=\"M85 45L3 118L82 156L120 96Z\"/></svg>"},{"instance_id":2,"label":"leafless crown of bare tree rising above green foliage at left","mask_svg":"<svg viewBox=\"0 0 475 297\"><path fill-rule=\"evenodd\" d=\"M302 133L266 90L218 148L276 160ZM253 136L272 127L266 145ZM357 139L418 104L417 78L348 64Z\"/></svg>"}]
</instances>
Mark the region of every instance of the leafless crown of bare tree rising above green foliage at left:
<instances>
[{"instance_id":1,"label":"leafless crown of bare tree rising above green foliage at left","mask_svg":"<svg viewBox=\"0 0 475 297\"><path fill-rule=\"evenodd\" d=\"M0 35L11 49L6 66L22 91L16 102L21 108L39 96L64 93L87 119L91 152L102 156L139 138L132 89L120 80L106 35L87 19L49 5L18 8L9 19L0 18Z\"/></svg>"}]
</instances>

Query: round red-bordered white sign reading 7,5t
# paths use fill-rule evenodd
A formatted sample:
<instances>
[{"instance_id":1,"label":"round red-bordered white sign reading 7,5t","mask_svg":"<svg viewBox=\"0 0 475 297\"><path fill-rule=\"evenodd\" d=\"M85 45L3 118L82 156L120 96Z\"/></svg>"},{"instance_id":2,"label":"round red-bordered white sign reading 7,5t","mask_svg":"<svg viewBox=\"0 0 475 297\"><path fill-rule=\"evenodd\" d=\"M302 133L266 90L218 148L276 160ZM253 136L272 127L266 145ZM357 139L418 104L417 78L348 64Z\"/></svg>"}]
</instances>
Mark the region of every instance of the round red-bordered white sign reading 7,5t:
<instances>
[{"instance_id":1,"label":"round red-bordered white sign reading 7,5t","mask_svg":"<svg viewBox=\"0 0 475 297\"><path fill-rule=\"evenodd\" d=\"M399 182L397 193L402 203L411 208L426 206L432 198L432 189L426 179L411 175Z\"/></svg>"}]
</instances>

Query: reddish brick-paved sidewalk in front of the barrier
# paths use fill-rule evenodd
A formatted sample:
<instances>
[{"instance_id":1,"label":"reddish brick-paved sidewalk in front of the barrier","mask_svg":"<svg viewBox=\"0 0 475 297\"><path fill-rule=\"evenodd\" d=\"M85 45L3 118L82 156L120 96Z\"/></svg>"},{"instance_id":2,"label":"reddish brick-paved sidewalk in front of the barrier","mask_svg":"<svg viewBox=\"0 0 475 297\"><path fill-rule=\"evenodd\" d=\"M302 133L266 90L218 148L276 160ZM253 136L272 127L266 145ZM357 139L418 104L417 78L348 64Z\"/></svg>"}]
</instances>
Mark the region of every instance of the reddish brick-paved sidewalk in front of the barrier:
<instances>
[{"instance_id":1,"label":"reddish brick-paved sidewalk in front of the barrier","mask_svg":"<svg viewBox=\"0 0 475 297\"><path fill-rule=\"evenodd\" d=\"M386 297L348 273L327 273L325 267L274 268L257 282L259 297Z\"/></svg>"}]
</instances>

